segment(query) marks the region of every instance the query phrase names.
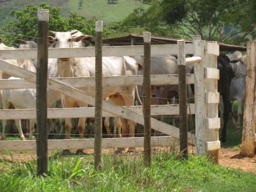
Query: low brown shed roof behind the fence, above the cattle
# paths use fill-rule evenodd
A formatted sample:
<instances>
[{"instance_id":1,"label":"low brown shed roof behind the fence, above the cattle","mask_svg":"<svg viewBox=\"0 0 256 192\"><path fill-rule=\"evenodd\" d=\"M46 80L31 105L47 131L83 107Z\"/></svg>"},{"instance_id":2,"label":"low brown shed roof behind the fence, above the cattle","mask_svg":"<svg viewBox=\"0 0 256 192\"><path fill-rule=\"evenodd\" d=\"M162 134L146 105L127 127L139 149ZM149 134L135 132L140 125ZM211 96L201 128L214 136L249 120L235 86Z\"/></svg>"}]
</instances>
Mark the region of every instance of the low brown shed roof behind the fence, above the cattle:
<instances>
[{"instance_id":1,"label":"low brown shed roof behind the fence, above the cattle","mask_svg":"<svg viewBox=\"0 0 256 192\"><path fill-rule=\"evenodd\" d=\"M111 46L125 46L131 45L131 39L134 39L134 45L143 45L143 36L137 34L130 34L127 36L120 36L120 37L113 37L103 39L103 44L109 44ZM151 44L152 45L159 45L159 44L177 44L176 38L169 38L169 37L151 37ZM191 44L191 40L186 40L186 44ZM246 51L246 47L243 46L234 46L234 45L227 45L223 44L222 42L218 42L220 45L220 51Z\"/></svg>"}]
</instances>

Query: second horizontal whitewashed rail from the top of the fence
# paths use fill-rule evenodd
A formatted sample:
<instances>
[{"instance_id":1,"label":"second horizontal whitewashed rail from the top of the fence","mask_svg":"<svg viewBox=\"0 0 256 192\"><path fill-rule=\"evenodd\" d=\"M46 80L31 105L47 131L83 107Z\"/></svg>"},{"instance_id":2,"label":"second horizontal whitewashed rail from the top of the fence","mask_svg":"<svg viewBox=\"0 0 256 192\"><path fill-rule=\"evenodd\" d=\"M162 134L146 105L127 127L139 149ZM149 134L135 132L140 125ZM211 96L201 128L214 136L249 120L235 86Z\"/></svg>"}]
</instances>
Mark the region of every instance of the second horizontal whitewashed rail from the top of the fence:
<instances>
[{"instance_id":1,"label":"second horizontal whitewashed rail from the top of the fence","mask_svg":"<svg viewBox=\"0 0 256 192\"><path fill-rule=\"evenodd\" d=\"M95 77L50 78L71 87L95 87ZM103 77L103 86L142 85L143 75ZM187 84L194 83L194 74L187 74ZM152 85L179 84L178 74L151 75ZM1 79L0 89L33 89L35 84L25 79Z\"/></svg>"}]
</instances>

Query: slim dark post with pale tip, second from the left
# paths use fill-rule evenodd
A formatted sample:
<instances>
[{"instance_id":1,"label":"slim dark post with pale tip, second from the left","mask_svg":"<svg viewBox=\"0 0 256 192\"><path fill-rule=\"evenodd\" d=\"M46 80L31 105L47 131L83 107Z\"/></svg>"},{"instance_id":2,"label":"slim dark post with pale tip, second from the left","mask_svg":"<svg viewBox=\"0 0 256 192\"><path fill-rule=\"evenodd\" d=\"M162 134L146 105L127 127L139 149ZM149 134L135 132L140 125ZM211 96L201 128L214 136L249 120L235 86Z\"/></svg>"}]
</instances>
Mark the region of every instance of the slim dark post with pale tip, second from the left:
<instances>
[{"instance_id":1,"label":"slim dark post with pale tip, second from the left","mask_svg":"<svg viewBox=\"0 0 256 192\"><path fill-rule=\"evenodd\" d=\"M94 138L94 168L101 166L102 139L102 29L103 22L95 24L95 138Z\"/></svg>"}]
</instances>

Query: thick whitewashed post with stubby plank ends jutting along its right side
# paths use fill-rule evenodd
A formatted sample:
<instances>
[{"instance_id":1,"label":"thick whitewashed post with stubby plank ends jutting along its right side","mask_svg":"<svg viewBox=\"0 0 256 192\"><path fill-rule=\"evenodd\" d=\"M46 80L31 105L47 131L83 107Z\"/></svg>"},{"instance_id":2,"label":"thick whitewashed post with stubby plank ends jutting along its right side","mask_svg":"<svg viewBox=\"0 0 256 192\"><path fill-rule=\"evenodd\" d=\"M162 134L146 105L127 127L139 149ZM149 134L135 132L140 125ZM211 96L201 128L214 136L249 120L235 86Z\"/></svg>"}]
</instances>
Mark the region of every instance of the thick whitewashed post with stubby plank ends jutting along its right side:
<instances>
[{"instance_id":1,"label":"thick whitewashed post with stubby plank ends jutting along its right side","mask_svg":"<svg viewBox=\"0 0 256 192\"><path fill-rule=\"evenodd\" d=\"M194 56L200 56L202 59L194 70L196 154L211 156L218 163L220 119L218 118L219 93L217 85L219 71L217 70L217 55L219 46L205 43L203 40L195 40L193 44Z\"/></svg>"}]
</instances>

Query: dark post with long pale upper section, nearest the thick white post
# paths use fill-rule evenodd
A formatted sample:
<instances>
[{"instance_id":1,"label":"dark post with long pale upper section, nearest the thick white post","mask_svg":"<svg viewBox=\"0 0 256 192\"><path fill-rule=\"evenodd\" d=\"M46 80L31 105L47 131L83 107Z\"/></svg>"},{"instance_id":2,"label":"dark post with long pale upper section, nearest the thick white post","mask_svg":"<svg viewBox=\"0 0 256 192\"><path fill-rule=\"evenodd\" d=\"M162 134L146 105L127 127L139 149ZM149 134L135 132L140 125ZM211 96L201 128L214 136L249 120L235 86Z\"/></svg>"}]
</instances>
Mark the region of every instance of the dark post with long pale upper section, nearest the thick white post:
<instances>
[{"instance_id":1,"label":"dark post with long pale upper section, nearest the thick white post","mask_svg":"<svg viewBox=\"0 0 256 192\"><path fill-rule=\"evenodd\" d=\"M188 158L187 142L187 84L185 40L178 40L179 109L180 109L180 153Z\"/></svg>"}]
</instances>

